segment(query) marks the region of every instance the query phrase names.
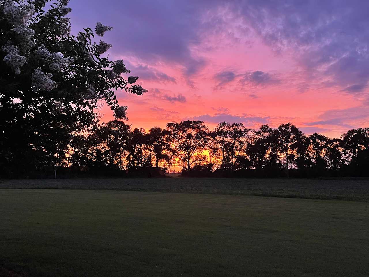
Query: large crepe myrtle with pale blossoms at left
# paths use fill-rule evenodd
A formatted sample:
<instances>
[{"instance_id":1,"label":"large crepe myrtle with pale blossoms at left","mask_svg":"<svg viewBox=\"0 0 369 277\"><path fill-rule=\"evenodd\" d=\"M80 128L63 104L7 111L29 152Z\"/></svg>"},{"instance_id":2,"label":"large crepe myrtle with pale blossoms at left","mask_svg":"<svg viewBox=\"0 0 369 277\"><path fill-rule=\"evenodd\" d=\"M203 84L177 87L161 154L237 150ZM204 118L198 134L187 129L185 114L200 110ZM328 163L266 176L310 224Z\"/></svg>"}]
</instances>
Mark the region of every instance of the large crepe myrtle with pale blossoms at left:
<instances>
[{"instance_id":1,"label":"large crepe myrtle with pale blossoms at left","mask_svg":"<svg viewBox=\"0 0 369 277\"><path fill-rule=\"evenodd\" d=\"M103 56L111 44L94 41L111 27L74 36L68 0L46 2L0 1L0 172L58 165L73 135L98 125L101 101L127 120L115 91L146 92L137 76L121 76L130 73L123 60Z\"/></svg>"}]
</instances>

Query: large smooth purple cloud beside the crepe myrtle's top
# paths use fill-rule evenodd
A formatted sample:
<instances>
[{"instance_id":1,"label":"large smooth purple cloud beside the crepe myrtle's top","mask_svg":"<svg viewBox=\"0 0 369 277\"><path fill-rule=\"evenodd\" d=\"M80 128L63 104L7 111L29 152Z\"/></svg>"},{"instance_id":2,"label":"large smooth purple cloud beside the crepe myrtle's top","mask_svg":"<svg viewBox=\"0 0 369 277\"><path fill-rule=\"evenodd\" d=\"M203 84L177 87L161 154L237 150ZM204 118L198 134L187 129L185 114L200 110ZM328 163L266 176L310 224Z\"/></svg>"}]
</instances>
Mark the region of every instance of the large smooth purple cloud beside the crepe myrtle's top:
<instances>
[{"instance_id":1,"label":"large smooth purple cloud beside the crepe myrtle's top","mask_svg":"<svg viewBox=\"0 0 369 277\"><path fill-rule=\"evenodd\" d=\"M89 12L86 12L86 4ZM192 54L190 44L200 43L201 35L197 30L201 14L211 3L111 0L101 7L100 1L90 0L71 1L69 6L72 23L79 28L93 26L97 18L114 28L104 35L114 45L110 51L113 55L124 53L148 64L174 62L184 66L183 73L187 76L205 65L204 59Z\"/></svg>"}]
</instances>

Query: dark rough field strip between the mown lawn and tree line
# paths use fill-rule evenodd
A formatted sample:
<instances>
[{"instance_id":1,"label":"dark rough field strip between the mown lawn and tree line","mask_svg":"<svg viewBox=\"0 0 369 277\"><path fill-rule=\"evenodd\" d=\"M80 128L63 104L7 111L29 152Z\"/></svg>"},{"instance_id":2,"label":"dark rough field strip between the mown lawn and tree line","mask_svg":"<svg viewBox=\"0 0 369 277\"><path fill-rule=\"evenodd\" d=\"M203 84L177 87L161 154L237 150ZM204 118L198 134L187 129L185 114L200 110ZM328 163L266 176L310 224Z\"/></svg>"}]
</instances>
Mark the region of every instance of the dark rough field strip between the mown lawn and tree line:
<instances>
[{"instance_id":1,"label":"dark rough field strip between the mown lawn and tree line","mask_svg":"<svg viewBox=\"0 0 369 277\"><path fill-rule=\"evenodd\" d=\"M369 178L100 178L0 180L0 188L112 189L369 202Z\"/></svg>"}]
</instances>

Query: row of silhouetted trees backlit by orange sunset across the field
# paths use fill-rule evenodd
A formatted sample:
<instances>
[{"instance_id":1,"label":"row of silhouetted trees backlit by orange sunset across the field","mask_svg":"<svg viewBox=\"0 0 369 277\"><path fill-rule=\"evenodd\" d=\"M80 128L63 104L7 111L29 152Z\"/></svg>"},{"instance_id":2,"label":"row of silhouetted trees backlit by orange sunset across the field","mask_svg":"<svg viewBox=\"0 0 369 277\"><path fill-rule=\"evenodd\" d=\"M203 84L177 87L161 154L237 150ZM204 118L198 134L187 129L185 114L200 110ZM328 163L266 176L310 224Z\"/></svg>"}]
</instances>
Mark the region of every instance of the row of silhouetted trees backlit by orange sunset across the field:
<instances>
[{"instance_id":1,"label":"row of silhouetted trees backlit by orange sunset across the field","mask_svg":"<svg viewBox=\"0 0 369 277\"><path fill-rule=\"evenodd\" d=\"M34 168L19 160L15 167L3 162L2 177L53 176L55 166L67 177L154 177L174 165L189 177L363 177L369 176L369 128L331 139L306 136L291 123L253 130L222 122L211 131L201 121L187 120L146 132L113 120L74 134L58 158L57 165Z\"/></svg>"}]
</instances>

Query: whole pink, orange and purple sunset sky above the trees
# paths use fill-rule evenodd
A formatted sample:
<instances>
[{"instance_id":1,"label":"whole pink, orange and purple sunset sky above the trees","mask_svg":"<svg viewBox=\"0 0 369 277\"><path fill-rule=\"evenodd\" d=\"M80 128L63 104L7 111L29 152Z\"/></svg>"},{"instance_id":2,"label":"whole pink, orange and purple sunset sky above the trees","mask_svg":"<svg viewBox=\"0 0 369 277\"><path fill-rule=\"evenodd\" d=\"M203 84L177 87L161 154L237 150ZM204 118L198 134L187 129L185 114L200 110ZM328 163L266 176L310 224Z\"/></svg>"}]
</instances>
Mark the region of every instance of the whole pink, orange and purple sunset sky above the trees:
<instances>
[{"instance_id":1,"label":"whole pink, orange and purple sunset sky above the trees","mask_svg":"<svg viewBox=\"0 0 369 277\"><path fill-rule=\"evenodd\" d=\"M369 1L71 0L72 31L103 40L144 95L118 91L132 127L221 121L337 137L369 126ZM112 119L103 110L104 121Z\"/></svg>"}]
</instances>

